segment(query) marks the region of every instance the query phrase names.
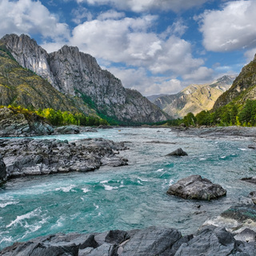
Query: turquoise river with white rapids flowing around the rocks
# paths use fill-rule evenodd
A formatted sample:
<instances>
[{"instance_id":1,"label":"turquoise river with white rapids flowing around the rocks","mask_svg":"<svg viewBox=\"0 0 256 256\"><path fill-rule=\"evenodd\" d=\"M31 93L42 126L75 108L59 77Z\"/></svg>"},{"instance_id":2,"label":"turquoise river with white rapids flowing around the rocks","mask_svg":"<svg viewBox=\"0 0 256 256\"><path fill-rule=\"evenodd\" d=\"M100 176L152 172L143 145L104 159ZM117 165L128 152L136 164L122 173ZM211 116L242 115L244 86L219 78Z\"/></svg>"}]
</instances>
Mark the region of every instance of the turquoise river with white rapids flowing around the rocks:
<instances>
[{"instance_id":1,"label":"turquoise river with white rapids flowing around the rocks","mask_svg":"<svg viewBox=\"0 0 256 256\"><path fill-rule=\"evenodd\" d=\"M191 234L256 190L254 184L240 180L256 175L256 151L248 148L250 138L199 138L168 128L99 129L38 138L126 142L130 150L120 155L128 158L129 165L6 182L0 188L0 250L13 242L59 232L166 226ZM179 147L188 156L166 156ZM227 190L226 197L198 202L166 194L171 184L191 174L220 184Z\"/></svg>"}]
</instances>

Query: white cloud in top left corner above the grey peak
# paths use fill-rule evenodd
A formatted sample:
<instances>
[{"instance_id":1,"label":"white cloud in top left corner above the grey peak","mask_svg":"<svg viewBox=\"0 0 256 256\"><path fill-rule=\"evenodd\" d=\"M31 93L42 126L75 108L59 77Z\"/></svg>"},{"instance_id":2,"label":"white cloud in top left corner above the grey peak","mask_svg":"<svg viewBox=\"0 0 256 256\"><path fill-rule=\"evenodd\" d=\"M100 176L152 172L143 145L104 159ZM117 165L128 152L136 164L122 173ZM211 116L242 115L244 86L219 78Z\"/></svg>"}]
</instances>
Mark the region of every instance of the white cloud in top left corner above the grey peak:
<instances>
[{"instance_id":1,"label":"white cloud in top left corner above the grey peak","mask_svg":"<svg viewBox=\"0 0 256 256\"><path fill-rule=\"evenodd\" d=\"M58 22L58 17L41 2L31 0L0 1L0 35L41 34L44 38L69 38L66 23Z\"/></svg>"}]
</instances>

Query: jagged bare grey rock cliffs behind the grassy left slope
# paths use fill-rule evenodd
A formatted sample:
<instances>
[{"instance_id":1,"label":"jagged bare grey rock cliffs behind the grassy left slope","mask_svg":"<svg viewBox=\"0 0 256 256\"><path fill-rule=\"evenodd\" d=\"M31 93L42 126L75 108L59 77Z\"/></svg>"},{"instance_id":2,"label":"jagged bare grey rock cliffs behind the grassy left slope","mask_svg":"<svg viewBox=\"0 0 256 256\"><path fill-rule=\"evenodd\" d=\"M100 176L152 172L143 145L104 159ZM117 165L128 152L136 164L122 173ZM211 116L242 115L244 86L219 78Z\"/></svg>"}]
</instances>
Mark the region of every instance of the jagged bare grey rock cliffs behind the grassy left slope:
<instances>
[{"instance_id":1,"label":"jagged bare grey rock cliffs behind the grassy left slope","mask_svg":"<svg viewBox=\"0 0 256 256\"><path fill-rule=\"evenodd\" d=\"M8 34L0 45L28 70L46 79L55 90L74 101L79 98L99 115L119 122L160 122L169 118L138 91L129 90L96 59L78 47L63 46L48 54L34 39L22 34Z\"/></svg>"}]
</instances>

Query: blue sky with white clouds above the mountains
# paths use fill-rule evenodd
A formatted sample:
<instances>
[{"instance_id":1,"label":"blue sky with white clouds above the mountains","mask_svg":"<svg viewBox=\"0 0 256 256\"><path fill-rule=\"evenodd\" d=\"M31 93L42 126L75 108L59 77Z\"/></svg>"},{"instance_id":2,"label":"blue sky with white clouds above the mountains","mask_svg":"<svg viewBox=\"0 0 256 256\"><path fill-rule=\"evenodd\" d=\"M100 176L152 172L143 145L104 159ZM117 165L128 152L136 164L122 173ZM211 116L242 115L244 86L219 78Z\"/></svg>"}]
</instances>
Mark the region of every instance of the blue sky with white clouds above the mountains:
<instances>
[{"instance_id":1,"label":"blue sky with white clouds above the mountains","mask_svg":"<svg viewBox=\"0 0 256 256\"><path fill-rule=\"evenodd\" d=\"M0 38L78 46L144 96L239 74L256 54L256 1L0 0Z\"/></svg>"}]
</instances>

